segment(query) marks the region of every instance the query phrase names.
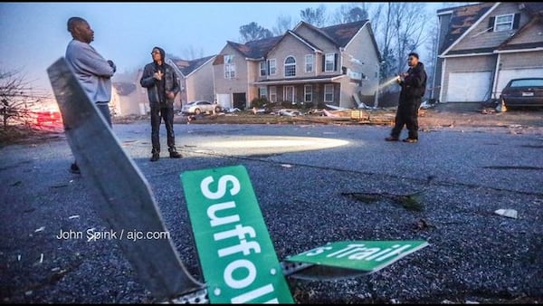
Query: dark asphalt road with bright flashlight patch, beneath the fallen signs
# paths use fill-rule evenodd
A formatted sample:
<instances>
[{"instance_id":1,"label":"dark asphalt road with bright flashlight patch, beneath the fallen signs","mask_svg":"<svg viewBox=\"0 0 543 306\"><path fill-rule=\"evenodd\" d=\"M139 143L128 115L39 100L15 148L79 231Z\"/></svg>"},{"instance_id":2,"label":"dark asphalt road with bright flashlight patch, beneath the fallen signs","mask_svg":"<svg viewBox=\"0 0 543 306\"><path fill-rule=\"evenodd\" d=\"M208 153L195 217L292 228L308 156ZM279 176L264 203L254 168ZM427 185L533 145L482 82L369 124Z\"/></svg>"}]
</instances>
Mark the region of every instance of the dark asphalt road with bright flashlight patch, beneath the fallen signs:
<instances>
[{"instance_id":1,"label":"dark asphalt road with bright flashlight patch, beneath the fallen signs","mask_svg":"<svg viewBox=\"0 0 543 306\"><path fill-rule=\"evenodd\" d=\"M247 168L279 259L343 240L426 240L383 270L334 282L289 278L299 303L543 301L543 128L176 124L184 158L150 158L147 121L114 133L157 198L187 269L203 281L179 174ZM166 133L161 130L166 148ZM166 150L165 150L166 151ZM107 230L66 139L0 148L0 301L154 301L114 240L57 239ZM112 169L114 170L114 169ZM417 206L386 195L419 193ZM376 196L365 202L360 195ZM381 195L381 196L379 196ZM495 213L515 209L517 218Z\"/></svg>"}]
</instances>

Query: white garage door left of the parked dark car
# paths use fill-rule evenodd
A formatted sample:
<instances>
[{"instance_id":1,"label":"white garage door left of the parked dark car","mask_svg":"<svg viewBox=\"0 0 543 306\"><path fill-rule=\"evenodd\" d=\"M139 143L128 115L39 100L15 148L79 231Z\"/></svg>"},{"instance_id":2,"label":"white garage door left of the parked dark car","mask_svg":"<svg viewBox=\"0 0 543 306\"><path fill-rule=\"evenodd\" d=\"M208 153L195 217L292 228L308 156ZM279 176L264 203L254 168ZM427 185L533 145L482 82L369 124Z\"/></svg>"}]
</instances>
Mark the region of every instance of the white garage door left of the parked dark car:
<instances>
[{"instance_id":1,"label":"white garage door left of the parked dark car","mask_svg":"<svg viewBox=\"0 0 543 306\"><path fill-rule=\"evenodd\" d=\"M452 72L447 89L448 102L482 102L491 95L492 72Z\"/></svg>"}]
</instances>

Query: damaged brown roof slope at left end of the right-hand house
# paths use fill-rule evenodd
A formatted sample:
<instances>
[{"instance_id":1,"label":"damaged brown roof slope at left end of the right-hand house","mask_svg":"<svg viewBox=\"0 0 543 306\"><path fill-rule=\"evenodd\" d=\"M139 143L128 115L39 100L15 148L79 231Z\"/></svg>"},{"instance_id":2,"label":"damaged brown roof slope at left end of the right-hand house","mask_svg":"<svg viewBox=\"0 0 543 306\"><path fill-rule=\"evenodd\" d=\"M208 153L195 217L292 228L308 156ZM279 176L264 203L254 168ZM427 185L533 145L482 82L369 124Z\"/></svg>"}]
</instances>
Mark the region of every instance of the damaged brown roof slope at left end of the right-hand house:
<instances>
[{"instance_id":1,"label":"damaged brown roof slope at left end of the right-hand house","mask_svg":"<svg viewBox=\"0 0 543 306\"><path fill-rule=\"evenodd\" d=\"M452 43L458 41L473 24L479 21L484 14L487 14L495 2L483 2L476 5L462 5L452 8L443 8L437 10L437 14L443 14L452 11L449 29L443 40L443 45L439 53L443 53Z\"/></svg>"}]
</instances>

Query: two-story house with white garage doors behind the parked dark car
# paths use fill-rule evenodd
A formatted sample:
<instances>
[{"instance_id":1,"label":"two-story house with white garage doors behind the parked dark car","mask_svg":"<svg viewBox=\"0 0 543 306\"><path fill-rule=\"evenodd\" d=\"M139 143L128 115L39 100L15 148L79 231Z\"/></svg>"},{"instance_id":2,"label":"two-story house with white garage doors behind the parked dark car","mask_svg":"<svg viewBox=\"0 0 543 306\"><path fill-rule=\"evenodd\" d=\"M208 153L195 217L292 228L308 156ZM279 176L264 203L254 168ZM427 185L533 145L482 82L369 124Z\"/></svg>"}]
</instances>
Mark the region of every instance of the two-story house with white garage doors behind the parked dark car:
<instances>
[{"instance_id":1,"label":"two-story house with white garage doors behind the parked dark car","mask_svg":"<svg viewBox=\"0 0 543 306\"><path fill-rule=\"evenodd\" d=\"M543 4L488 2L437 11L434 99L499 99L513 78L543 77Z\"/></svg>"}]
</instances>

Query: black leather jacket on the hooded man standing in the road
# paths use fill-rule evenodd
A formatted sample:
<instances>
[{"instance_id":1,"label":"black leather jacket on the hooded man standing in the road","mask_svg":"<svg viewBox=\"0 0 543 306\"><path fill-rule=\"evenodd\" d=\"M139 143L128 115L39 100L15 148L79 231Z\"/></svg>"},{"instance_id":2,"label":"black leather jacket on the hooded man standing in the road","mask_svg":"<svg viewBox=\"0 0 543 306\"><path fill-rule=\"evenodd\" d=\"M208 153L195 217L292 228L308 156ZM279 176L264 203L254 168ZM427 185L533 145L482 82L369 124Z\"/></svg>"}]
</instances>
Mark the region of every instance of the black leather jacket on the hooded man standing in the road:
<instances>
[{"instance_id":1,"label":"black leather jacket on the hooded man standing in the road","mask_svg":"<svg viewBox=\"0 0 543 306\"><path fill-rule=\"evenodd\" d=\"M166 62L164 62L164 51L161 50L162 54L162 65L164 66L164 80L165 80L165 91L173 91L175 95L179 92L179 79L177 78L177 74L174 71L174 68L170 65L168 65ZM158 96L158 86L157 86L157 79L153 77L153 75L157 72L157 64L156 62L150 62L148 63L145 68L143 69L143 75L141 76L141 80L139 80L139 83L142 87L147 88L148 90L148 99L149 99L149 106L150 107L174 107L174 99L167 99L165 104L160 104L160 98Z\"/></svg>"}]
</instances>

